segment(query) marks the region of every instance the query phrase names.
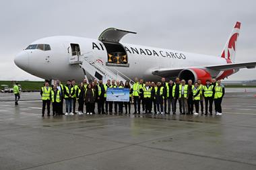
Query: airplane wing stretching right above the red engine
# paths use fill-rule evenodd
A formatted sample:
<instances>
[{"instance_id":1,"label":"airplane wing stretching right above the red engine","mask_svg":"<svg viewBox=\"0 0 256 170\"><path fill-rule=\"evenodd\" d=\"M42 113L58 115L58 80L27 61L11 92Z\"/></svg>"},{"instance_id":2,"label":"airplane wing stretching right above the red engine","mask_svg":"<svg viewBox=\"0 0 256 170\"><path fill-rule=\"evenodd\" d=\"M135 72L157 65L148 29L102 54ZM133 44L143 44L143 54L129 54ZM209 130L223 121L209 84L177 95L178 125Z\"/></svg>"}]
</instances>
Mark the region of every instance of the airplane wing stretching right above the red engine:
<instances>
[{"instance_id":1,"label":"airplane wing stretching right above the red engine","mask_svg":"<svg viewBox=\"0 0 256 170\"><path fill-rule=\"evenodd\" d=\"M256 67L256 62L241 62L241 63L230 63L226 65L212 65L212 66L192 67L192 68L210 69L213 71L226 71L230 69L243 69L243 68L254 69L255 67ZM184 68L177 68L177 69L163 68L163 69L152 71L152 74L158 75L161 77L176 77L184 69L191 69L191 67L189 68L184 67Z\"/></svg>"}]
</instances>

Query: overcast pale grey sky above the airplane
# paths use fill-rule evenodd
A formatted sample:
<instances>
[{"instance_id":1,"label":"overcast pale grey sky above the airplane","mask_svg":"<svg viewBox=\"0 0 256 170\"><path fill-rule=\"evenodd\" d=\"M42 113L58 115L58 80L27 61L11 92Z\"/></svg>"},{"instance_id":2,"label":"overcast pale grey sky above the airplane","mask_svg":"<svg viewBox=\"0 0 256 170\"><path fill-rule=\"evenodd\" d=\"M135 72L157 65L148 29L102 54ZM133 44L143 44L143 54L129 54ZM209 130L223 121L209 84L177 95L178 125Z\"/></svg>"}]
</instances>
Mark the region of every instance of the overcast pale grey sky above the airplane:
<instances>
[{"instance_id":1,"label":"overcast pale grey sky above the airplane","mask_svg":"<svg viewBox=\"0 0 256 170\"><path fill-rule=\"evenodd\" d=\"M1 1L0 80L41 80L15 66L15 54L46 36L98 38L109 27L137 32L123 42L220 55L242 23L236 62L256 60L256 1ZM242 69L229 80L256 79Z\"/></svg>"}]
</instances>

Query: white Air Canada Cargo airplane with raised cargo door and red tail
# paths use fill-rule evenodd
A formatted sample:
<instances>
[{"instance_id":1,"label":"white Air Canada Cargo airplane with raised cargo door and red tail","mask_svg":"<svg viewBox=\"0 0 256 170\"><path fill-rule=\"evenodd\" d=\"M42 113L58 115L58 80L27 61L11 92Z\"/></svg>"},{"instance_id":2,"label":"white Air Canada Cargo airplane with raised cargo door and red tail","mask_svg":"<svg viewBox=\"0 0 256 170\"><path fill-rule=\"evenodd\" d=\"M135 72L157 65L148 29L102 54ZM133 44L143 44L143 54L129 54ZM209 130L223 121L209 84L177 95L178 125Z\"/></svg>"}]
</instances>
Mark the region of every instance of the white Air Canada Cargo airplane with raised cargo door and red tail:
<instances>
[{"instance_id":1,"label":"white Air Canada Cargo airplane with raised cargo door and red tail","mask_svg":"<svg viewBox=\"0 0 256 170\"><path fill-rule=\"evenodd\" d=\"M220 56L125 44L120 42L123 36L137 33L108 28L98 40L75 36L36 40L15 56L14 62L46 80L119 79L133 83L135 77L146 81L180 77L205 83L207 79L227 78L239 69L255 68L256 61L235 62L240 28L241 23L236 22Z\"/></svg>"}]
</instances>

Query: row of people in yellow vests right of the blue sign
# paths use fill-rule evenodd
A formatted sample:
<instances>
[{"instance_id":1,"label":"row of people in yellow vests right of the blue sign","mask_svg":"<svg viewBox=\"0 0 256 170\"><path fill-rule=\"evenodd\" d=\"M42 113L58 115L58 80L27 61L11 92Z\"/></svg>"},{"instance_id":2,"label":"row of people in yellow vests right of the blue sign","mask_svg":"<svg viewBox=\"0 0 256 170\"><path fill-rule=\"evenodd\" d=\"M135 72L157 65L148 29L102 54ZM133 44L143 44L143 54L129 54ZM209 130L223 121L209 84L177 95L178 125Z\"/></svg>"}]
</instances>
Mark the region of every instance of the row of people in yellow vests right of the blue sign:
<instances>
[{"instance_id":1,"label":"row of people in yellow vests right of the blue sign","mask_svg":"<svg viewBox=\"0 0 256 170\"><path fill-rule=\"evenodd\" d=\"M199 114L199 105L201 106L201 115L204 114L203 100L205 101L205 115L212 115L212 105L215 104L216 115L222 115L222 98L225 90L221 85L221 81L216 79L206 80L206 84L202 85L198 80L194 84L192 80L180 80L179 77L175 81L166 82L162 77L161 82L146 82L143 79L135 79L132 88L135 114L140 114L141 103L143 114L151 114L152 108L154 114L176 114L177 101L179 101L180 114ZM195 112L193 108L195 105ZM153 107L152 107L153 106Z\"/></svg>"}]
</instances>

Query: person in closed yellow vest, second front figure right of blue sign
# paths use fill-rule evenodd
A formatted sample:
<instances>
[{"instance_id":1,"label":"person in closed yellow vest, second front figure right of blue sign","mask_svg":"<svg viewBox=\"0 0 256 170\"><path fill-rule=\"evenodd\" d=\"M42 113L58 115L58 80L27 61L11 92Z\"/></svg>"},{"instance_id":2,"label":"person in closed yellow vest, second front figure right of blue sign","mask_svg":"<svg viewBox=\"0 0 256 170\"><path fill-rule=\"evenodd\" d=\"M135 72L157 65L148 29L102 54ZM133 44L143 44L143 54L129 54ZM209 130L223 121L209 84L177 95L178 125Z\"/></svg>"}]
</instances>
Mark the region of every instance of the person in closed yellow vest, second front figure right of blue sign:
<instances>
[{"instance_id":1,"label":"person in closed yellow vest, second front figure right of blue sign","mask_svg":"<svg viewBox=\"0 0 256 170\"><path fill-rule=\"evenodd\" d=\"M146 114L152 114L152 87L150 87L148 81L146 81L145 86L142 87L143 99L145 101Z\"/></svg>"}]
</instances>

